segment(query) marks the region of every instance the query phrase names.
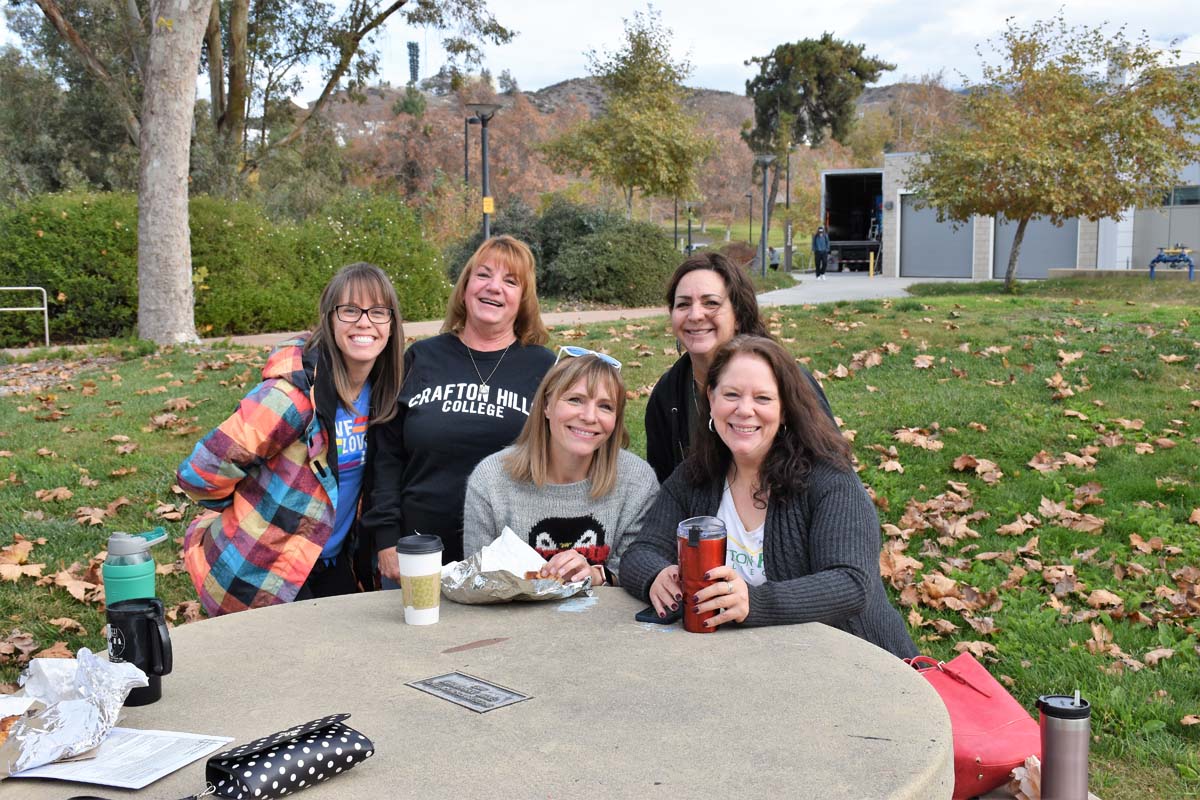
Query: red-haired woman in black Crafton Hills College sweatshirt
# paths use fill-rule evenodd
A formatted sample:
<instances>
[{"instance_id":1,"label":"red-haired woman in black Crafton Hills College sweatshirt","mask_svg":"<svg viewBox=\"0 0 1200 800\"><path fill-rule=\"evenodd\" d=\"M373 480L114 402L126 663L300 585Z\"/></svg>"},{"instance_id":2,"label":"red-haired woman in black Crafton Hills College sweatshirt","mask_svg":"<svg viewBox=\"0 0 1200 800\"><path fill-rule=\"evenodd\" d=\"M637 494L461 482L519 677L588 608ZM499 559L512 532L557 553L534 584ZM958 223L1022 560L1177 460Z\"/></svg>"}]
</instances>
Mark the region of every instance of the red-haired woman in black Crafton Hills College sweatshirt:
<instances>
[{"instance_id":1,"label":"red-haired woman in black Crafton Hills College sweatshirt","mask_svg":"<svg viewBox=\"0 0 1200 800\"><path fill-rule=\"evenodd\" d=\"M554 363L547 338L533 253L512 236L488 239L455 283L442 333L408 349L400 410L379 431L364 524L385 589L398 587L401 536L440 536L443 560L462 559L467 477L521 433Z\"/></svg>"}]
</instances>

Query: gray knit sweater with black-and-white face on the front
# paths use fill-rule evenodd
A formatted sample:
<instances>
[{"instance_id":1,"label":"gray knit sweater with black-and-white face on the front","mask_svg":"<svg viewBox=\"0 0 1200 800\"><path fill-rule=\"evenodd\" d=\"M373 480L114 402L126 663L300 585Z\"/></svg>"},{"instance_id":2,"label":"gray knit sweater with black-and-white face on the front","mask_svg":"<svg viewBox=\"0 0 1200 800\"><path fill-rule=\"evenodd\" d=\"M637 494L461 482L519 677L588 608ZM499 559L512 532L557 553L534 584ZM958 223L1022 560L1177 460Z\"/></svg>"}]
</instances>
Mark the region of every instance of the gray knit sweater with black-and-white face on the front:
<instances>
[{"instance_id":1,"label":"gray knit sweater with black-and-white face on the front","mask_svg":"<svg viewBox=\"0 0 1200 800\"><path fill-rule=\"evenodd\" d=\"M620 557L659 491L650 465L620 451L617 485L608 494L593 499L589 480L545 486L512 480L503 461L510 451L481 461L467 481L463 555L469 558L481 551L508 525L544 558L575 549L589 564L619 576Z\"/></svg>"}]
</instances>

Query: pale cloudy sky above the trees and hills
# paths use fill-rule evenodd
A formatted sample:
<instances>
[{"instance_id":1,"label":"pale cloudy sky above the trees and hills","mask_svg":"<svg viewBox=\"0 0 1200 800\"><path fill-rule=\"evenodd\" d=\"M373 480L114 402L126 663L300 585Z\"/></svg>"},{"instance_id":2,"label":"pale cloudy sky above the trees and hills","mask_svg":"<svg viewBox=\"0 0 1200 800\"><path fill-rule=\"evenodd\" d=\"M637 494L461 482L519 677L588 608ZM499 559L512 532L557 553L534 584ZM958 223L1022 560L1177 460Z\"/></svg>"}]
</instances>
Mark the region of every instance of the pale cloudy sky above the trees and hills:
<instances>
[{"instance_id":1,"label":"pale cloudy sky above the trees and hills","mask_svg":"<svg viewBox=\"0 0 1200 800\"><path fill-rule=\"evenodd\" d=\"M1061 5L1073 24L1106 22L1109 30L1124 25L1130 38L1145 30L1159 47L1178 40L1183 60L1200 61L1198 0L1063 0ZM623 19L647 5L644 0L488 0L488 7L503 25L518 32L510 44L486 48L488 68L494 76L509 70L522 89L535 90L586 76L586 53L618 47ZM959 86L959 73L978 79L974 48L1002 31L1007 17L1028 26L1054 13L1057 5L1052 0L659 0L654 7L674 34L676 55L694 65L689 85L742 94L752 74L745 60L781 42L826 31L863 43L868 54L895 64L896 70L884 73L881 83L944 71L946 83ZM0 37L14 41L2 25ZM409 28L394 18L378 41L380 79L397 85L408 80L408 41L421 46L422 78L442 66L439 32ZM316 98L319 89L313 74L301 98Z\"/></svg>"}]
</instances>

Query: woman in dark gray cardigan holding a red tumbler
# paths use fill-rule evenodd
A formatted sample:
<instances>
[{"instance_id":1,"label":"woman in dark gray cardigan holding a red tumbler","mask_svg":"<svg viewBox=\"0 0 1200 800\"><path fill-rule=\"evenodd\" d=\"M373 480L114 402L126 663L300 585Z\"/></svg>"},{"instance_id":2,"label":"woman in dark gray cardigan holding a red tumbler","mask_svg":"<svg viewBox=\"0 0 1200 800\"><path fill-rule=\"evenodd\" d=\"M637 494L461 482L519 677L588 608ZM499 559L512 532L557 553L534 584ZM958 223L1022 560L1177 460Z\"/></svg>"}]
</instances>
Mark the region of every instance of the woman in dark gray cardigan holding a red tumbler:
<instances>
[{"instance_id":1,"label":"woman in dark gray cardigan holding a red tumbler","mask_svg":"<svg viewBox=\"0 0 1200 800\"><path fill-rule=\"evenodd\" d=\"M622 585L664 616L686 602L716 612L709 626L824 622L917 655L883 589L880 522L850 445L794 359L772 339L738 336L707 385L707 434L662 485L622 561ZM674 531L696 516L725 522L727 560L684 597Z\"/></svg>"}]
</instances>

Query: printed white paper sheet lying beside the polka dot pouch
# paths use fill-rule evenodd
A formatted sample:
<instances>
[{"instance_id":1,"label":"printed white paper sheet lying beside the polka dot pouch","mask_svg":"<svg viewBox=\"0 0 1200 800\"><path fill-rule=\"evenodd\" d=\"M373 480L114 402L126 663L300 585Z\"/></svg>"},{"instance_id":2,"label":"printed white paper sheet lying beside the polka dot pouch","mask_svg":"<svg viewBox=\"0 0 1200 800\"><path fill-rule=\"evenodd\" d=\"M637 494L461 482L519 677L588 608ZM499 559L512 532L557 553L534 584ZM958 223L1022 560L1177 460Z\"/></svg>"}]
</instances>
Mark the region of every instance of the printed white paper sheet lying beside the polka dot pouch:
<instances>
[{"instance_id":1,"label":"printed white paper sheet lying beside the polka dot pouch","mask_svg":"<svg viewBox=\"0 0 1200 800\"><path fill-rule=\"evenodd\" d=\"M233 736L205 736L173 730L113 728L94 758L35 766L11 777L42 777L98 783L120 789L140 789L198 758L216 752ZM203 789L203 780L196 790Z\"/></svg>"}]
</instances>

